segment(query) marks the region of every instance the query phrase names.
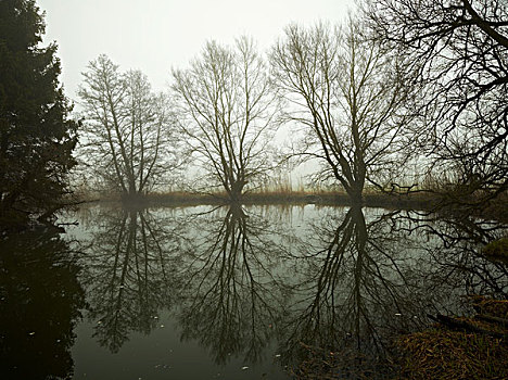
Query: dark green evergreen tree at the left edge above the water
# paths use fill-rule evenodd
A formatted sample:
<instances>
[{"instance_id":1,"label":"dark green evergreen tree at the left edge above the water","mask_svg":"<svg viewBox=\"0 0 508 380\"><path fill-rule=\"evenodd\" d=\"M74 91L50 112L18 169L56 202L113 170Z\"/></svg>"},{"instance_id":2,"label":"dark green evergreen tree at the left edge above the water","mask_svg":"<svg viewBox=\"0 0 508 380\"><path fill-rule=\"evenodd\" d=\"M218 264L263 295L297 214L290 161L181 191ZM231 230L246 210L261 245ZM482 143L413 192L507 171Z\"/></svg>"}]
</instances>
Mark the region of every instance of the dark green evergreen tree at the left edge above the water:
<instances>
[{"instance_id":1,"label":"dark green evergreen tree at the left edge above the water","mask_svg":"<svg viewBox=\"0 0 508 380\"><path fill-rule=\"evenodd\" d=\"M0 0L0 229L48 217L68 193L77 123L35 1Z\"/></svg>"}]
</instances>

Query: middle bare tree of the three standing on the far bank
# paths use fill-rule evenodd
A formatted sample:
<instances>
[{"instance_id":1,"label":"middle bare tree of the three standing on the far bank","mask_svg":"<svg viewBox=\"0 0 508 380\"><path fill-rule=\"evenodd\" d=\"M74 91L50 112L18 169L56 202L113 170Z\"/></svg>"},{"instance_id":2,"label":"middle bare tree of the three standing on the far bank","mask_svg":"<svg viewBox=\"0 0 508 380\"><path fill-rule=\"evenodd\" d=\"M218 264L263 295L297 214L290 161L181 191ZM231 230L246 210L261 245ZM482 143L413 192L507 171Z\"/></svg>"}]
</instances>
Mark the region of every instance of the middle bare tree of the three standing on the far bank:
<instances>
[{"instance_id":1,"label":"middle bare tree of the three standing on the far bank","mask_svg":"<svg viewBox=\"0 0 508 380\"><path fill-rule=\"evenodd\" d=\"M275 99L254 42L207 42L188 69L173 71L178 122L206 179L231 201L271 168L268 143Z\"/></svg>"}]
</instances>

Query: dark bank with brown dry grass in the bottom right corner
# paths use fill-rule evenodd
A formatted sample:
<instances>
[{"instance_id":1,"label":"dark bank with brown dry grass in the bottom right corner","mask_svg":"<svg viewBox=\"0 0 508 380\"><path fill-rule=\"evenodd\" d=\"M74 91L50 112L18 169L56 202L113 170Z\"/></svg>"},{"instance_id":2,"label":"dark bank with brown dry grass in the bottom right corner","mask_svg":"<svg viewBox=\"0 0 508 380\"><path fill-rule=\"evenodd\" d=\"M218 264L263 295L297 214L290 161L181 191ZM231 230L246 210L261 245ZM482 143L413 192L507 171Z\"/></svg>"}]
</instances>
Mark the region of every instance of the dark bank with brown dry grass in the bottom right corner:
<instances>
[{"instance_id":1,"label":"dark bank with brown dry grass in the bottom right corner","mask_svg":"<svg viewBox=\"0 0 508 380\"><path fill-rule=\"evenodd\" d=\"M377 362L301 343L307 359L290 369L309 379L508 379L508 301L471 297L471 317L432 316L429 329L395 339Z\"/></svg>"}]
</instances>

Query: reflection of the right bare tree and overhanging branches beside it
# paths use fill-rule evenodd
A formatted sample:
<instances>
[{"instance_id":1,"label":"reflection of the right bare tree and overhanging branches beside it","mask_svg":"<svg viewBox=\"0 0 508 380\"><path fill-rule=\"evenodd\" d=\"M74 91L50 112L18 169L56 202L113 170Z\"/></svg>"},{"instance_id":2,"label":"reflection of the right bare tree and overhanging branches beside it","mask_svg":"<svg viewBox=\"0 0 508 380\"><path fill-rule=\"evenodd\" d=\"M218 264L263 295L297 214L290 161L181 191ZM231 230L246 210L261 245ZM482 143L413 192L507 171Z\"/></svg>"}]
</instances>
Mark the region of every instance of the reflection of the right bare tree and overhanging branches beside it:
<instances>
[{"instance_id":1,"label":"reflection of the right bare tree and overhanging branches beside it","mask_svg":"<svg viewBox=\"0 0 508 380\"><path fill-rule=\"evenodd\" d=\"M381 377L392 338L428 326L427 314L457 313L465 294L506 296L505 264L480 254L503 233L497 224L359 207L335 214L321 215L293 257L287 360L302 363L308 346L319 347L336 352L334 376Z\"/></svg>"}]
</instances>

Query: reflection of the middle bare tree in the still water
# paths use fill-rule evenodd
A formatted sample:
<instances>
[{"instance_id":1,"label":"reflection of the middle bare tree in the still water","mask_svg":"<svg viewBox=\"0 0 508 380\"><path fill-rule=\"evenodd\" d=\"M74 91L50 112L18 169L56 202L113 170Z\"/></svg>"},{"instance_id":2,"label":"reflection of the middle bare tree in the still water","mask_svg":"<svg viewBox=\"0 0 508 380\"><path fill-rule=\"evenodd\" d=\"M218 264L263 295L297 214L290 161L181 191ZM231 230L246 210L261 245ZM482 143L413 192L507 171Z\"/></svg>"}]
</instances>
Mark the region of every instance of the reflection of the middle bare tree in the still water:
<instances>
[{"instance_id":1,"label":"reflection of the middle bare tree in the still water","mask_svg":"<svg viewBox=\"0 0 508 380\"><path fill-rule=\"evenodd\" d=\"M217 364L231 355L255 363L283 309L280 244L267 221L247 216L241 205L195 223L182 270L182 337L209 347Z\"/></svg>"}]
</instances>

